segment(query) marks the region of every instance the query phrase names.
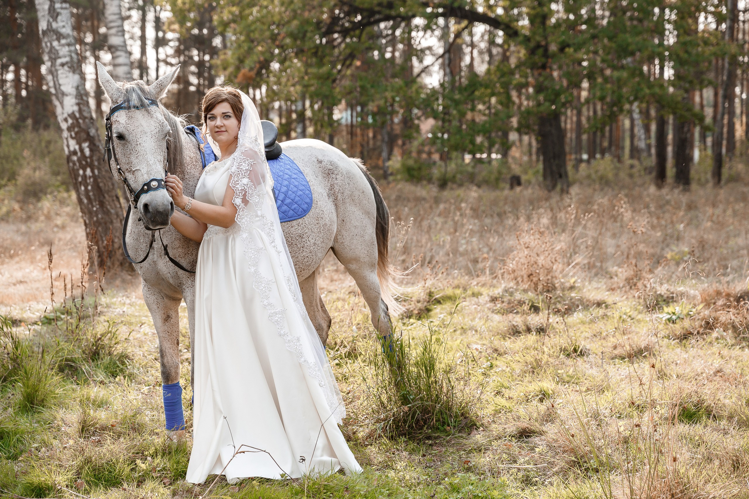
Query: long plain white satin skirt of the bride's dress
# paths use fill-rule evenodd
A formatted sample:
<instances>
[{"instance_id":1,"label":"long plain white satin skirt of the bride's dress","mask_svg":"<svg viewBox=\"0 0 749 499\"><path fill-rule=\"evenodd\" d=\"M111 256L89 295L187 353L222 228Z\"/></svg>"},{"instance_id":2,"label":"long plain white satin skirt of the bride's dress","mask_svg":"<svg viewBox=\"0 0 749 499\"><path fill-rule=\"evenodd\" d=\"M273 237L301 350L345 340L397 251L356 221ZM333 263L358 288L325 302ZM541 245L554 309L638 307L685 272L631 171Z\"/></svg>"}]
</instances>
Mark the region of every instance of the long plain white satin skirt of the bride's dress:
<instances>
[{"instance_id":1,"label":"long plain white satin skirt of the bride's dress","mask_svg":"<svg viewBox=\"0 0 749 499\"><path fill-rule=\"evenodd\" d=\"M261 230L252 239L267 250L259 252L258 268L273 274L266 275L275 284L270 299L295 312L283 314L286 330L304 327L309 318L284 284L279 254ZM187 481L202 483L222 470L230 483L360 471L318 381L271 322L243 248L237 224L211 226L198 254Z\"/></svg>"}]
</instances>

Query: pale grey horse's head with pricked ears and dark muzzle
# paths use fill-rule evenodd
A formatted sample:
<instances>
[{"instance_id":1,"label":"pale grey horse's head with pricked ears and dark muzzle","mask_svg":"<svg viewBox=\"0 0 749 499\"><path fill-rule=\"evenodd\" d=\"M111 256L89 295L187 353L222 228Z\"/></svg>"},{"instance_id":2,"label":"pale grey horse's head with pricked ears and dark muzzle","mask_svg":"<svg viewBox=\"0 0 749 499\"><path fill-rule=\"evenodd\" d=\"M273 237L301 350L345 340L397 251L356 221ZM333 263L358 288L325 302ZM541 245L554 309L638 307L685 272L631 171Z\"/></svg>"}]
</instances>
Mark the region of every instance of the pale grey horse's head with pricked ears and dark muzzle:
<instances>
[{"instance_id":1,"label":"pale grey horse's head with pricked ears and dark muzzle","mask_svg":"<svg viewBox=\"0 0 749 499\"><path fill-rule=\"evenodd\" d=\"M159 100L179 67L151 85L118 83L99 62L97 69L110 105L105 151L110 158L109 168L130 192L131 202L135 201L145 227L150 230L168 227L175 203L164 188L163 179L168 165L170 173L179 174L182 123Z\"/></svg>"}]
</instances>

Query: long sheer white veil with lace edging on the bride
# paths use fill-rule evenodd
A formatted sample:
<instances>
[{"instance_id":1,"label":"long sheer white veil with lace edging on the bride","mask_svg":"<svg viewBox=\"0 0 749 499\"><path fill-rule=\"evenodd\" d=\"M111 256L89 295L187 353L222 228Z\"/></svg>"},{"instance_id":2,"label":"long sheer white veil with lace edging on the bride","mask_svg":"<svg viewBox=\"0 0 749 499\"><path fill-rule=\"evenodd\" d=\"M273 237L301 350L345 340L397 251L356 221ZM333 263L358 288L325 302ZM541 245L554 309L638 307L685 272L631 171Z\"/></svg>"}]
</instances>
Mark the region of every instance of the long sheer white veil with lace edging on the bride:
<instances>
[{"instance_id":1,"label":"long sheer white veil with lace edging on the bride","mask_svg":"<svg viewBox=\"0 0 749 499\"><path fill-rule=\"evenodd\" d=\"M294 263L286 247L281 223L279 221L276 201L273 197L273 177L265 159L263 129L260 116L252 100L241 92L244 112L237 137L237 150L231 156L231 177L229 185L234 189L234 206L237 206L237 223L240 225L241 239L244 243L244 255L249 262L249 271L254 275L253 287L260 294L261 302L267 309L268 318L276 325L278 333L285 340L286 348L297 355L304 364L309 375L317 380L324 391L330 416L341 423L346 410L339 391L333 370L330 368L325 349L320 341L315 327L307 316L302 294L294 272ZM265 245L258 245L257 232L266 240ZM253 235L255 234L255 235ZM263 272L258 266L262 252L275 251L280 261L283 282L279 282L274 269ZM270 255L271 260L276 260ZM295 310L283 307L277 293L273 293L273 285L279 286L279 293L291 293L291 299L296 304ZM288 320L289 314L299 314L301 320ZM301 324L300 328L288 328L288 324ZM291 330L298 329L298 330ZM321 414L323 420L329 414Z\"/></svg>"}]
</instances>

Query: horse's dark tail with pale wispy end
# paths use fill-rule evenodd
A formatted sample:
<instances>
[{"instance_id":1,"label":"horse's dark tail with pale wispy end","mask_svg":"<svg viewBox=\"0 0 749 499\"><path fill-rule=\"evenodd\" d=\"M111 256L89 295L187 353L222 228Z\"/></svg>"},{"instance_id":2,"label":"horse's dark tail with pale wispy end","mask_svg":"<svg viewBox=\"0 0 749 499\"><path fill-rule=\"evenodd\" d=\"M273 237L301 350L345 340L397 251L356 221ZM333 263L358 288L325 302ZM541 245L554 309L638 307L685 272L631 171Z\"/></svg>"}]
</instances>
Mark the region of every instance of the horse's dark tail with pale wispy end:
<instances>
[{"instance_id":1,"label":"horse's dark tail with pale wispy end","mask_svg":"<svg viewBox=\"0 0 749 499\"><path fill-rule=\"evenodd\" d=\"M403 305L395 299L402 296L403 288L398 286L395 278L402 277L400 272L392 266L388 260L388 245L390 242L390 210L387 209L385 200L380 192L380 187L367 171L366 166L361 159L352 158L359 169L364 174L369 186L372 188L372 194L375 195L375 206L377 206L377 222L375 224L375 235L377 236L377 281L380 281L380 292L382 300L387 305L390 313L398 316L403 310Z\"/></svg>"}]
</instances>

